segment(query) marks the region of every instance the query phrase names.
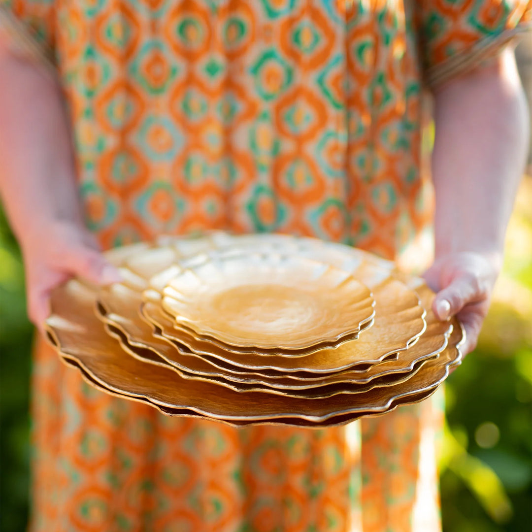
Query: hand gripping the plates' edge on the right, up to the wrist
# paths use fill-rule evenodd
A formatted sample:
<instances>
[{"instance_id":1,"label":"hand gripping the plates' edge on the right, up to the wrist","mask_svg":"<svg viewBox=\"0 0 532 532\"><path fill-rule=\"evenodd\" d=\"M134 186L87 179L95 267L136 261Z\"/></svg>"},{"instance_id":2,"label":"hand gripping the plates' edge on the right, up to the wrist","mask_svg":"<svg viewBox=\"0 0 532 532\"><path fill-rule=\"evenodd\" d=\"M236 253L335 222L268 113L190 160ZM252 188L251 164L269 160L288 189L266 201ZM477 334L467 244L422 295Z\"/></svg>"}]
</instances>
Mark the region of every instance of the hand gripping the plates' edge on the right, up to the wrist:
<instances>
[{"instance_id":1,"label":"hand gripping the plates' edge on the right, up to the wrist","mask_svg":"<svg viewBox=\"0 0 532 532\"><path fill-rule=\"evenodd\" d=\"M466 334L464 355L477 345L501 265L502 256L496 253L447 253L439 256L423 276L436 292L436 317L446 320L456 315L462 322Z\"/></svg>"}]
</instances>

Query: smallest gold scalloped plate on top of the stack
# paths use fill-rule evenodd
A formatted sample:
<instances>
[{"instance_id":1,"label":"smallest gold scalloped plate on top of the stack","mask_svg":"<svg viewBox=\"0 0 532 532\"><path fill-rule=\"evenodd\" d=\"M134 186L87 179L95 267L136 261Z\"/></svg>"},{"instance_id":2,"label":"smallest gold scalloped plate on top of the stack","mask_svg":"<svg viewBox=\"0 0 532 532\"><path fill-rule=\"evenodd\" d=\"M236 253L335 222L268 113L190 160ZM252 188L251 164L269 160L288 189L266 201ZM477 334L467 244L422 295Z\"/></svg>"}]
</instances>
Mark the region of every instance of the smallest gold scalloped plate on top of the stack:
<instances>
[{"instance_id":1,"label":"smallest gold scalloped plate on top of the stack","mask_svg":"<svg viewBox=\"0 0 532 532\"><path fill-rule=\"evenodd\" d=\"M211 255L181 270L161 305L180 325L220 342L284 354L358 332L370 290L349 273L297 255Z\"/></svg>"}]
</instances>

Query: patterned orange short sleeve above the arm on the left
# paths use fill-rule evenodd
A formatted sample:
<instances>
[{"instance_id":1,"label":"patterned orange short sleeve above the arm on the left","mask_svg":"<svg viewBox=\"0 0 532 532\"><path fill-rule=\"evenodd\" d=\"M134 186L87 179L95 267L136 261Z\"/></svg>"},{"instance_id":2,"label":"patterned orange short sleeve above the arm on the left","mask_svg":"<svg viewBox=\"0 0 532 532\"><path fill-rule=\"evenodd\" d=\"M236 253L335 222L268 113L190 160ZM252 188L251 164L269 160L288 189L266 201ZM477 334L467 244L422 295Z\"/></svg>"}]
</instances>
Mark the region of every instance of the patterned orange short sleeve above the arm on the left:
<instances>
[{"instance_id":1,"label":"patterned orange short sleeve above the arm on the left","mask_svg":"<svg viewBox=\"0 0 532 532\"><path fill-rule=\"evenodd\" d=\"M0 36L16 54L52 66L55 0L0 0Z\"/></svg>"}]
</instances>

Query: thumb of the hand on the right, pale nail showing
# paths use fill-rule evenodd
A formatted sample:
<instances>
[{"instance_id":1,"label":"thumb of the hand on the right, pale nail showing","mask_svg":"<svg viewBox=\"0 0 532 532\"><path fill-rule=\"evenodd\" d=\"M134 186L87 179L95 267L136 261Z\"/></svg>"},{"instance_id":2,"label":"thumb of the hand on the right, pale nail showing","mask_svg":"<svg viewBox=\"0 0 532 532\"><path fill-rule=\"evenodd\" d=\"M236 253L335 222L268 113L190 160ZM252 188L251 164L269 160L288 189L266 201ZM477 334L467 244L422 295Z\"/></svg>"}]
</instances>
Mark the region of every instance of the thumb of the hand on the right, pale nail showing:
<instances>
[{"instance_id":1,"label":"thumb of the hand on the right, pale nail showing","mask_svg":"<svg viewBox=\"0 0 532 532\"><path fill-rule=\"evenodd\" d=\"M433 302L433 311L437 318L446 320L457 314L470 303L483 301L487 289L479 278L472 273L463 273L451 281L451 284L438 292Z\"/></svg>"}]
</instances>

